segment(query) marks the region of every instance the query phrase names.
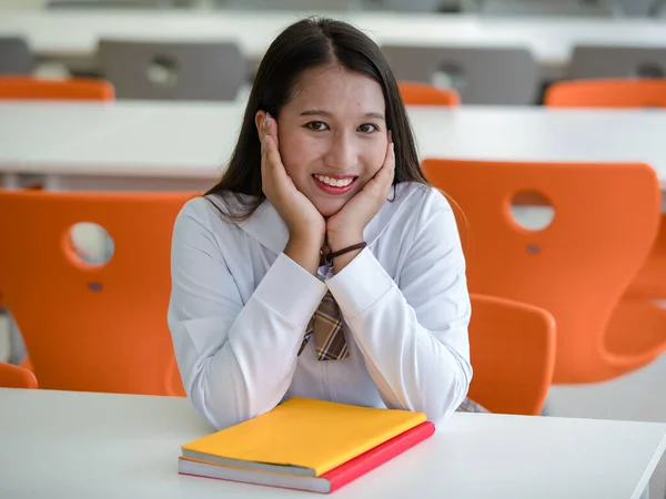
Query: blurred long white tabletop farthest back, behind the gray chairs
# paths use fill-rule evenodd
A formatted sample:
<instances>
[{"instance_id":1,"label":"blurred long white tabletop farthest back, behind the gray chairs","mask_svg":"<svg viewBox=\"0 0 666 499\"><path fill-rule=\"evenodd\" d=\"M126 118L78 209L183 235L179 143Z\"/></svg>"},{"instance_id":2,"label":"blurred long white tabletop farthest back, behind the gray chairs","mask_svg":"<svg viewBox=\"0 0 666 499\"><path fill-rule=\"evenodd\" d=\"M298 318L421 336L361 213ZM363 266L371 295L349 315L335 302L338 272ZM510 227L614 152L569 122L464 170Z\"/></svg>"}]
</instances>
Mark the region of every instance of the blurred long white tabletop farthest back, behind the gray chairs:
<instances>
[{"instance_id":1,"label":"blurred long white tabletop farthest back, behind the gray chairs","mask_svg":"<svg viewBox=\"0 0 666 499\"><path fill-rule=\"evenodd\" d=\"M0 34L24 37L41 55L92 58L100 37L139 40L234 40L260 58L275 35L312 12L17 10L0 14ZM666 22L647 19L482 18L392 12L332 12L379 43L522 45L563 64L576 43L666 44Z\"/></svg>"}]
</instances>

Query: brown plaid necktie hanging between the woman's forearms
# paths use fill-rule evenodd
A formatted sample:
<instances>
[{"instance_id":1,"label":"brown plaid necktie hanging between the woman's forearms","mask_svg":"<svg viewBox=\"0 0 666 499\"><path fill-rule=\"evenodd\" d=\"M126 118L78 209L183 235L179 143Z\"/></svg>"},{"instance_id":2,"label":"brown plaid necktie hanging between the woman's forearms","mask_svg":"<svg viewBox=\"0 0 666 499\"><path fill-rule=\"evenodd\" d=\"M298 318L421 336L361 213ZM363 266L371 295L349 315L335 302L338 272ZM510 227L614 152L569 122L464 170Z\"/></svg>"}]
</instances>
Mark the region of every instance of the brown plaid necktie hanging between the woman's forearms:
<instances>
[{"instance_id":1,"label":"brown plaid necktie hanging between the woman's forearms","mask_svg":"<svg viewBox=\"0 0 666 499\"><path fill-rule=\"evenodd\" d=\"M344 339L342 315L331 292L326 292L322 303L307 324L299 355L314 334L314 348L320 360L336 360L350 356L350 347Z\"/></svg>"}]
</instances>

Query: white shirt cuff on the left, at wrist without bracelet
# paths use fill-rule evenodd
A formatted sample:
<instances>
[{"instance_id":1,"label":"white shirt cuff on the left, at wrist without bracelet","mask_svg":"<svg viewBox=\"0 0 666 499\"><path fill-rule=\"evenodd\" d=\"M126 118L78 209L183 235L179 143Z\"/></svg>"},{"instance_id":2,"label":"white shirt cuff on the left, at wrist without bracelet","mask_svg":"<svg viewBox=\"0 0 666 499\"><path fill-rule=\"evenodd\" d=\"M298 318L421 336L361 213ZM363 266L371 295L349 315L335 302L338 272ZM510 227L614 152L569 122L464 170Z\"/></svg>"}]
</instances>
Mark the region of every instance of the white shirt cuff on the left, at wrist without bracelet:
<instances>
[{"instance_id":1,"label":"white shirt cuff on the left, at wrist without bracelet","mask_svg":"<svg viewBox=\"0 0 666 499\"><path fill-rule=\"evenodd\" d=\"M254 295L290 322L306 326L326 294L326 285L284 253L259 283Z\"/></svg>"}]
</instances>

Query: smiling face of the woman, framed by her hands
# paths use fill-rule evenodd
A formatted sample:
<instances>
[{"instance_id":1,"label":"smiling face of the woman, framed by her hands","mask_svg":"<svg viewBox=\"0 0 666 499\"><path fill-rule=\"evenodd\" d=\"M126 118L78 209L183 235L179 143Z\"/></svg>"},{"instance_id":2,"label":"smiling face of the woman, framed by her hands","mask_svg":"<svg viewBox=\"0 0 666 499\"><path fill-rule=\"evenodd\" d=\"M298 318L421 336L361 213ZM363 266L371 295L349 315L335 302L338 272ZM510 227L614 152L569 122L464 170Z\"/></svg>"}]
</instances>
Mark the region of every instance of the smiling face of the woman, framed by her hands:
<instances>
[{"instance_id":1,"label":"smiling face of the woman, framed by her hands","mask_svg":"<svg viewBox=\"0 0 666 499\"><path fill-rule=\"evenodd\" d=\"M331 216L384 163L389 131L382 88L337 64L307 70L280 110L278 140L296 189Z\"/></svg>"}]
</instances>

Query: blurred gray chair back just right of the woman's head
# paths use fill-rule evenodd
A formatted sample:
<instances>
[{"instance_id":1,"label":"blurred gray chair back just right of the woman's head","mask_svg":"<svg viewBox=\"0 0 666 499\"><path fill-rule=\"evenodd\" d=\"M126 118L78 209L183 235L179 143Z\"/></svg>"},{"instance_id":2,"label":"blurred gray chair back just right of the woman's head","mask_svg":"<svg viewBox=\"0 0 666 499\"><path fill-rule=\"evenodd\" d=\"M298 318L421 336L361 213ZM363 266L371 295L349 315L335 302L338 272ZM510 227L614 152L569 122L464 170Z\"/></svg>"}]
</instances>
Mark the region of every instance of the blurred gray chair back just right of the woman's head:
<instances>
[{"instance_id":1,"label":"blurred gray chair back just right of the woman's head","mask_svg":"<svg viewBox=\"0 0 666 499\"><path fill-rule=\"evenodd\" d=\"M398 80L455 89L463 104L527 105L538 95L538 65L523 48L383 45Z\"/></svg>"}]
</instances>

